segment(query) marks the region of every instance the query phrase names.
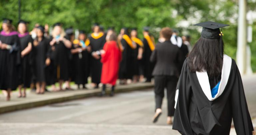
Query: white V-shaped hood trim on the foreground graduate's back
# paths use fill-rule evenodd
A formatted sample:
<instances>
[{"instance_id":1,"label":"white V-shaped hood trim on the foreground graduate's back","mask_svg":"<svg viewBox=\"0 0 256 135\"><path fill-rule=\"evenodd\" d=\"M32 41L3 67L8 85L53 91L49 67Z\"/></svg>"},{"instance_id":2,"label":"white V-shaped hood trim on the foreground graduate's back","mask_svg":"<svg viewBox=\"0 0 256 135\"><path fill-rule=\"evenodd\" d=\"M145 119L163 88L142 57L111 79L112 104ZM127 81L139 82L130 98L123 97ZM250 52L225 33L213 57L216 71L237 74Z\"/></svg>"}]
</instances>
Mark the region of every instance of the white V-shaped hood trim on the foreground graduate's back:
<instances>
[{"instance_id":1,"label":"white V-shaped hood trim on the foreground graduate's back","mask_svg":"<svg viewBox=\"0 0 256 135\"><path fill-rule=\"evenodd\" d=\"M230 74L230 70L231 70L231 64L232 64L232 59L227 55L223 55L223 65L222 65L220 85L219 85L218 93L216 94L216 96L214 98L212 98L211 87L210 87L207 72L206 71L196 72L199 84L200 84L205 96L208 98L209 101L213 101L213 100L217 99L223 93L223 91L228 83L229 74Z\"/></svg>"}]
</instances>

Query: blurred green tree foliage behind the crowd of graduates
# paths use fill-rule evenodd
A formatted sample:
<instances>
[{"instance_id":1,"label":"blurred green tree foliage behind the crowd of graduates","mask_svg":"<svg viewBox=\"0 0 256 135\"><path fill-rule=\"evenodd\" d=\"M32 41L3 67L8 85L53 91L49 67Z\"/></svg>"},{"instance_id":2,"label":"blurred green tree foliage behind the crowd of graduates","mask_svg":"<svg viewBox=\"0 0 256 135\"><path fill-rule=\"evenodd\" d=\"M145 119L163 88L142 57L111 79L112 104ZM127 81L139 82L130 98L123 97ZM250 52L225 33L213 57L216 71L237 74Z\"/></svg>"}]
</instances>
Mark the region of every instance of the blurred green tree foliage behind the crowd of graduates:
<instances>
[{"instance_id":1,"label":"blurred green tree foliage behind the crowd of graduates","mask_svg":"<svg viewBox=\"0 0 256 135\"><path fill-rule=\"evenodd\" d=\"M247 0L248 10L255 11L255 0ZM93 23L104 28L137 27L139 37L142 28L150 26L157 38L161 27L176 28L191 36L194 44L200 37L200 29L192 24L215 21L230 24L223 29L225 53L235 59L237 46L238 0L21 0L21 19L29 21L31 30L35 23L52 26L62 22L64 28L73 27L91 32ZM0 18L18 22L18 0L0 1ZM188 27L180 21L186 20ZM253 37L256 34L253 25ZM252 51L252 68L256 72L256 43L249 44Z\"/></svg>"}]
</instances>

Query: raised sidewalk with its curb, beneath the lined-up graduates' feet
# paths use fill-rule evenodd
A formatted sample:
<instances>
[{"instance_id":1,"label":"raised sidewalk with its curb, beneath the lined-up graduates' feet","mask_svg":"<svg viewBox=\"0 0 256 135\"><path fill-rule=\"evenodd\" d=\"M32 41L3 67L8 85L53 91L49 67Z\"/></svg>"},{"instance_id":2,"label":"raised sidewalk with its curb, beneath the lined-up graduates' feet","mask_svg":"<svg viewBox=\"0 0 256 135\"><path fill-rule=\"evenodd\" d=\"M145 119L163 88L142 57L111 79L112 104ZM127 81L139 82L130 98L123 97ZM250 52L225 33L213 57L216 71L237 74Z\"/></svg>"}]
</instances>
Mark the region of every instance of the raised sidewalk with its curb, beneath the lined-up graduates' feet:
<instances>
[{"instance_id":1,"label":"raised sidewalk with its curb, beneath the lined-up graduates' feet","mask_svg":"<svg viewBox=\"0 0 256 135\"><path fill-rule=\"evenodd\" d=\"M135 91L140 89L153 88L151 83L136 83L129 85L119 85L116 87L116 93ZM108 90L108 89L107 89ZM57 102L76 100L86 97L97 96L100 89L95 90L74 90L60 92L46 92L43 95L37 95L35 92L27 92L27 98L17 98L18 93L13 92L11 101L6 101L3 94L0 95L0 113L15 111L25 108L37 107Z\"/></svg>"}]
</instances>

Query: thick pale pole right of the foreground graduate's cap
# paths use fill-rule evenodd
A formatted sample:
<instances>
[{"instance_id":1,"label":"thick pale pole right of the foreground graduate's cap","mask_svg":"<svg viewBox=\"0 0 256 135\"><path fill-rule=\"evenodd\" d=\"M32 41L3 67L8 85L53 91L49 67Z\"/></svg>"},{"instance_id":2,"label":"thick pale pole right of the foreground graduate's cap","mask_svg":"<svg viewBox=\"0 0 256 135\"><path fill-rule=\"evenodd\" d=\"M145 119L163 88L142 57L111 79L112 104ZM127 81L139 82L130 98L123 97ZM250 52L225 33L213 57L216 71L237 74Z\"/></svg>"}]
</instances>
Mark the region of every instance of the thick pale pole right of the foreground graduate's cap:
<instances>
[{"instance_id":1,"label":"thick pale pole right of the foreground graduate's cap","mask_svg":"<svg viewBox=\"0 0 256 135\"><path fill-rule=\"evenodd\" d=\"M246 0L239 0L236 63L241 75L246 74L247 21Z\"/></svg>"}]
</instances>

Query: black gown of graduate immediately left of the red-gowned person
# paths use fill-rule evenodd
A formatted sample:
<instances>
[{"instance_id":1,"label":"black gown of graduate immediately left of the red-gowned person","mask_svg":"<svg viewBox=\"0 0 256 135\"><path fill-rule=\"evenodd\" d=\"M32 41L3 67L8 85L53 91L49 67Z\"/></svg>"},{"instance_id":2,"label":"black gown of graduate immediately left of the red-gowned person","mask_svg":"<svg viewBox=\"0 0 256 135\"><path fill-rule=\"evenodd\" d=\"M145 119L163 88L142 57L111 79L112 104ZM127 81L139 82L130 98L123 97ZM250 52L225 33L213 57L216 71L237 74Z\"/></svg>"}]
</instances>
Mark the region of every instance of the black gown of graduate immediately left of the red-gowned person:
<instances>
[{"instance_id":1,"label":"black gown of graduate immediately left of the red-gowned person","mask_svg":"<svg viewBox=\"0 0 256 135\"><path fill-rule=\"evenodd\" d=\"M106 38L104 35L97 39L93 38L92 36L89 36L89 40L92 51L98 51L103 49L103 46L106 42ZM90 56L90 66L92 83L99 84L101 79L102 68L102 63L100 62L100 59L95 59L94 57Z\"/></svg>"}]
</instances>

